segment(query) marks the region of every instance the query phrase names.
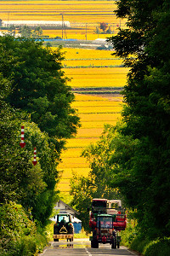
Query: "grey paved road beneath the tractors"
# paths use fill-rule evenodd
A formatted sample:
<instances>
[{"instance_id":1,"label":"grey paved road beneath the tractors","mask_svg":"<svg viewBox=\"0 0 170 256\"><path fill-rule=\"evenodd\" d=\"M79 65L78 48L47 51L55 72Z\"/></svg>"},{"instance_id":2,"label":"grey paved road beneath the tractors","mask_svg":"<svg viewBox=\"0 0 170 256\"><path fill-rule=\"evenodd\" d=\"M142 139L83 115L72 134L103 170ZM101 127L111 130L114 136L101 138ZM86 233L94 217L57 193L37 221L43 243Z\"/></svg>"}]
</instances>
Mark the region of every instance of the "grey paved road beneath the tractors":
<instances>
[{"instance_id":1,"label":"grey paved road beneath the tractors","mask_svg":"<svg viewBox=\"0 0 170 256\"><path fill-rule=\"evenodd\" d=\"M73 242L52 241L49 247L45 247L43 253L39 256L129 256L137 254L127 250L127 247L111 249L110 244L99 244L99 248L91 248L88 239L74 239Z\"/></svg>"}]
</instances>

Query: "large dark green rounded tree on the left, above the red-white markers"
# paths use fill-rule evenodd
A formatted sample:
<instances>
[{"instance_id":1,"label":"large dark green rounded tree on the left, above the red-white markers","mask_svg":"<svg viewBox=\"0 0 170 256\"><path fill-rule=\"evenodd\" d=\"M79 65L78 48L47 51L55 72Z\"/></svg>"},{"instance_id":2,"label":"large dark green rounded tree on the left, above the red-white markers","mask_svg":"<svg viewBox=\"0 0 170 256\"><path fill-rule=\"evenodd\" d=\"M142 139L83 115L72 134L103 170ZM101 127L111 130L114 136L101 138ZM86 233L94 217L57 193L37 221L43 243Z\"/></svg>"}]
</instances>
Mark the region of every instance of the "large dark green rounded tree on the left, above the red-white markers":
<instances>
[{"instance_id":1,"label":"large dark green rounded tree on the left, above the red-white markers","mask_svg":"<svg viewBox=\"0 0 170 256\"><path fill-rule=\"evenodd\" d=\"M13 80L7 102L30 113L60 152L65 138L76 134L79 126L77 112L71 108L74 95L61 71L60 49L44 48L42 42L28 38L2 37L0 43L10 60L8 66L8 61L0 61L3 77Z\"/></svg>"}]
</instances>

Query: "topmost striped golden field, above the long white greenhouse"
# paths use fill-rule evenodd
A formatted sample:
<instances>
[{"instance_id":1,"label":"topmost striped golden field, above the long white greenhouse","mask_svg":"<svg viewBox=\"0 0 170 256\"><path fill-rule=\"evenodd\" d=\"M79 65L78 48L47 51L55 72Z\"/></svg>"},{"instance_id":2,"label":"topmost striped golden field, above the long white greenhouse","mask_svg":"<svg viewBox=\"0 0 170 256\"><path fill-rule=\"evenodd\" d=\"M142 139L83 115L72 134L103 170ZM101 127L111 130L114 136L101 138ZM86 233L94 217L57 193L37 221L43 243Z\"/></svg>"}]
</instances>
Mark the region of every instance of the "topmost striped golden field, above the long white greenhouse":
<instances>
[{"instance_id":1,"label":"topmost striped golden field, above the long white greenhouse","mask_svg":"<svg viewBox=\"0 0 170 256\"><path fill-rule=\"evenodd\" d=\"M64 20L79 23L115 23L115 1L0 1L2 20ZM125 21L122 21L124 26Z\"/></svg>"}]
</instances>

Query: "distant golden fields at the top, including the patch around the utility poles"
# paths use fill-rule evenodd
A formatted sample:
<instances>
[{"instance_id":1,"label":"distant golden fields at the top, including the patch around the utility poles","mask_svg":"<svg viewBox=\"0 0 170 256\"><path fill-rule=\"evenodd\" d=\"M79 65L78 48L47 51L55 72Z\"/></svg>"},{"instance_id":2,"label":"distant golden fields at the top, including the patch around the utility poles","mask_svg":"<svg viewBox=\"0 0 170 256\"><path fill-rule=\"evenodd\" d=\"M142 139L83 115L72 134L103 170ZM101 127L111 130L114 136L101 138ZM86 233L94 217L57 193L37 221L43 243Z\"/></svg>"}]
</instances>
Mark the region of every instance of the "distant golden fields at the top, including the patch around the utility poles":
<instances>
[{"instance_id":1,"label":"distant golden fields at the top, including the patch around the utility poles","mask_svg":"<svg viewBox=\"0 0 170 256\"><path fill-rule=\"evenodd\" d=\"M116 3L112 0L6 0L0 1L0 19L42 20L42 26L43 21L69 21L71 27L65 27L64 38L95 40L108 37L99 30L101 22L105 22L110 29L109 36L115 34L118 27L125 26L125 20L116 19L115 9ZM43 34L50 38L62 37L62 30L49 27L43 29Z\"/></svg>"}]
</instances>

